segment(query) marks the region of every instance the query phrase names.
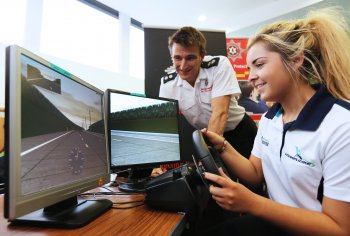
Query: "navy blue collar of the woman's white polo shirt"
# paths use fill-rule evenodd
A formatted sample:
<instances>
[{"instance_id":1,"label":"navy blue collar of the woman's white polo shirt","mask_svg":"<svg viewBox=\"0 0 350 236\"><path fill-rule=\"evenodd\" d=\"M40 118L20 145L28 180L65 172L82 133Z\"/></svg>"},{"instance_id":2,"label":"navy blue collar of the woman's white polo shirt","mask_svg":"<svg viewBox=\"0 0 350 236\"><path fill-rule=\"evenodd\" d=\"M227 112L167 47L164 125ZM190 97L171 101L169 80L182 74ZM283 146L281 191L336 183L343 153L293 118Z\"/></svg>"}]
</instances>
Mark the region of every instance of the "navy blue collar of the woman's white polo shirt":
<instances>
[{"instance_id":1,"label":"navy blue collar of the woman's white polo shirt","mask_svg":"<svg viewBox=\"0 0 350 236\"><path fill-rule=\"evenodd\" d=\"M317 130L336 101L337 99L327 91L326 87L321 86L305 104L290 129ZM281 111L283 111L281 104L276 103L269 109L265 117L273 119L275 116L278 117Z\"/></svg>"}]
</instances>

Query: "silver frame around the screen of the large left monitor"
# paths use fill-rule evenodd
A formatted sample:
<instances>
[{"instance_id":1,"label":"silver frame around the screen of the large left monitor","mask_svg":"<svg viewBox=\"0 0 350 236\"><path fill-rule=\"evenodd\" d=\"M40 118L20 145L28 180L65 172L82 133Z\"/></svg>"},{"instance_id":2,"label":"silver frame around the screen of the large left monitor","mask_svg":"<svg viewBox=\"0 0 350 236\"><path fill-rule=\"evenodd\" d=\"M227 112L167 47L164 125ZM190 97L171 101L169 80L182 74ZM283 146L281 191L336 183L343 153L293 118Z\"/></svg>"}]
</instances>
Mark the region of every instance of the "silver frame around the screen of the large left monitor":
<instances>
[{"instance_id":1,"label":"silver frame around the screen of the large left monitor","mask_svg":"<svg viewBox=\"0 0 350 236\"><path fill-rule=\"evenodd\" d=\"M67 185L53 187L28 195L21 195L20 161L21 161L21 55L62 74L95 92L101 97L101 112L104 118L105 139L106 120L104 92L81 80L75 75L61 69L53 63L34 53L11 45L6 48L5 69L5 198L4 216L9 221L54 203L66 200L110 182L109 158L106 145L106 171L87 179L77 180Z\"/></svg>"}]
</instances>

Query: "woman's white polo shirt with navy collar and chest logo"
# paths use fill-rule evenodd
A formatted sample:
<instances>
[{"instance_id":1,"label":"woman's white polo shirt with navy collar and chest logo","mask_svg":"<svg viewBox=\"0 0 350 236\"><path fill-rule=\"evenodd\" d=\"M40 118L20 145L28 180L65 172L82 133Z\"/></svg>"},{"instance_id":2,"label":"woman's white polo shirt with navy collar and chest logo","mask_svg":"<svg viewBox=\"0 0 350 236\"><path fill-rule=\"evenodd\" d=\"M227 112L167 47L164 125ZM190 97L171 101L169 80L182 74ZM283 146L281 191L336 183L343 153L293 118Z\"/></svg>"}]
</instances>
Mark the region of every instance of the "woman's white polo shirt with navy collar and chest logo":
<instances>
[{"instance_id":1,"label":"woman's white polo shirt with navy collar and chest logo","mask_svg":"<svg viewBox=\"0 0 350 236\"><path fill-rule=\"evenodd\" d=\"M297 120L283 125L275 104L260 120L252 154L261 158L272 200L321 211L323 194L350 202L350 104L320 88Z\"/></svg>"}]
</instances>

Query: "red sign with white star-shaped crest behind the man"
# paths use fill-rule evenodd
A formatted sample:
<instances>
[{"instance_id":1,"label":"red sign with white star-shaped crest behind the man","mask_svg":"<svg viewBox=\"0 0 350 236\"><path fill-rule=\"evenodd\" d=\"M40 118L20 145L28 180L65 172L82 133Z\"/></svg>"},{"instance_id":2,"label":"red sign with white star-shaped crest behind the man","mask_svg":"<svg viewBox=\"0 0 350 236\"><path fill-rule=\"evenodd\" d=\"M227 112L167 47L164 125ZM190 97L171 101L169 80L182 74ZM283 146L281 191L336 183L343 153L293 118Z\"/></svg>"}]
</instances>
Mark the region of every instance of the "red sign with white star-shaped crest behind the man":
<instances>
[{"instance_id":1,"label":"red sign with white star-shaped crest behind the man","mask_svg":"<svg viewBox=\"0 0 350 236\"><path fill-rule=\"evenodd\" d=\"M249 71L247 68L247 43L248 38L227 38L226 39L226 51L227 57L231 62L231 65L236 72L238 80L247 80Z\"/></svg>"}]
</instances>

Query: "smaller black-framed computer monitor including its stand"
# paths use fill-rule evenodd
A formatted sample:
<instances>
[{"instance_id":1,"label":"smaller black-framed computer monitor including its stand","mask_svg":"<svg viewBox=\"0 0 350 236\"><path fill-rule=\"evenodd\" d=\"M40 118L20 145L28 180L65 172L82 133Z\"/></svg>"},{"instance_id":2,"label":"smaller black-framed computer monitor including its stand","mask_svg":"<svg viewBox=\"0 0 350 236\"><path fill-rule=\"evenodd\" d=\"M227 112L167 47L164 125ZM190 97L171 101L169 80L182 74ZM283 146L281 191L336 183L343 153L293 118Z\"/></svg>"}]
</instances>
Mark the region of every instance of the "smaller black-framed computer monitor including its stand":
<instances>
[{"instance_id":1,"label":"smaller black-framed computer monitor including its stand","mask_svg":"<svg viewBox=\"0 0 350 236\"><path fill-rule=\"evenodd\" d=\"M112 89L106 95L111 171L129 169L119 188L142 191L153 167L181 161L178 102Z\"/></svg>"}]
</instances>

